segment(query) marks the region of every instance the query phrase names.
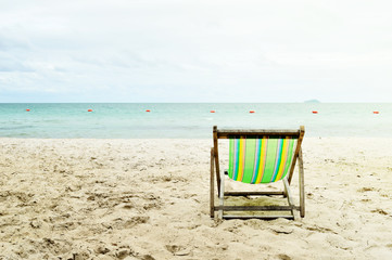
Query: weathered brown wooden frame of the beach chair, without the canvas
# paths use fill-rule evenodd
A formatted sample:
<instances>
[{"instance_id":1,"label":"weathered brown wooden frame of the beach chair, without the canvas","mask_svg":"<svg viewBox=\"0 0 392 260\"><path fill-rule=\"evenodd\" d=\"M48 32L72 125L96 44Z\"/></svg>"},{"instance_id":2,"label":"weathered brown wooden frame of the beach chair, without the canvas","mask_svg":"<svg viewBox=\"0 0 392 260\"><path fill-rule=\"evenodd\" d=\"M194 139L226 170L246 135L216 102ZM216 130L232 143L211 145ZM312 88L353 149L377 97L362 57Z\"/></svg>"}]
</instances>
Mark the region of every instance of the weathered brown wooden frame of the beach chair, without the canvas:
<instances>
[{"instance_id":1,"label":"weathered brown wooden frame of the beach chair, without the canvas","mask_svg":"<svg viewBox=\"0 0 392 260\"><path fill-rule=\"evenodd\" d=\"M305 134L303 126L298 130L239 130L239 129L220 129L216 126L213 129L214 146L211 148L211 178L210 178L210 214L215 217L215 211L218 211L219 219L277 219L287 218L295 219L294 210L299 210L301 218L305 217L305 191L304 191L304 170L302 159L302 141ZM255 138L255 136L291 136L298 139L294 157L283 182L284 190L281 192L225 192L225 172L219 168L218 155L218 140L231 138ZM300 187L300 206L295 206L290 192L290 184L294 173L296 160L299 162L299 187ZM217 193L219 198L219 206L215 206L215 177L217 184ZM225 197L228 196L276 196L281 195L287 197L288 206L225 206ZM224 211L290 211L287 216L228 216Z\"/></svg>"}]
</instances>

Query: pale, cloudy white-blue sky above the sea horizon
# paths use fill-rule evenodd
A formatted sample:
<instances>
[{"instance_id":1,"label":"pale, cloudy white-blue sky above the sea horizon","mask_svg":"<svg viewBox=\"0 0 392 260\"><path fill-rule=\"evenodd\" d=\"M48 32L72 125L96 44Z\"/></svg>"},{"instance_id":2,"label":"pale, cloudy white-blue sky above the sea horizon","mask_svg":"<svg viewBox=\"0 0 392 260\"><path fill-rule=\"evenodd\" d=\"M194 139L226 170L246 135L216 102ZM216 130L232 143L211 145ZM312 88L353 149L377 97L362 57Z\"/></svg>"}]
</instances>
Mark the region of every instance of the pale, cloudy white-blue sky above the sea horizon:
<instances>
[{"instance_id":1,"label":"pale, cloudy white-blue sky above the sea horizon","mask_svg":"<svg viewBox=\"0 0 392 260\"><path fill-rule=\"evenodd\" d=\"M392 102L390 0L0 0L0 103Z\"/></svg>"}]
</instances>

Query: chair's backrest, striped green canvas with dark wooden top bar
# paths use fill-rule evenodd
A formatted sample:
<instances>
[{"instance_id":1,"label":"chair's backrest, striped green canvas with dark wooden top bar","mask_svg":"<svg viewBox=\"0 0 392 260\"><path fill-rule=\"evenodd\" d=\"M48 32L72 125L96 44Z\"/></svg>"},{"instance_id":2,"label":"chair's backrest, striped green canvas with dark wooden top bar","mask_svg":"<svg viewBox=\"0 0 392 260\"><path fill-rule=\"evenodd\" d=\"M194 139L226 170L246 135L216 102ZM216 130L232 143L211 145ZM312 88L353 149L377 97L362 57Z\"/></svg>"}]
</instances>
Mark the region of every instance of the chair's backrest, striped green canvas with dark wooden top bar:
<instances>
[{"instance_id":1,"label":"chair's backrest, striped green canvas with dark wooden top bar","mask_svg":"<svg viewBox=\"0 0 392 260\"><path fill-rule=\"evenodd\" d=\"M214 151L217 154L217 139L230 140L228 176L232 180L250 184L276 182L287 174L291 179L304 132L304 127L296 130L218 130L214 127Z\"/></svg>"}]
</instances>

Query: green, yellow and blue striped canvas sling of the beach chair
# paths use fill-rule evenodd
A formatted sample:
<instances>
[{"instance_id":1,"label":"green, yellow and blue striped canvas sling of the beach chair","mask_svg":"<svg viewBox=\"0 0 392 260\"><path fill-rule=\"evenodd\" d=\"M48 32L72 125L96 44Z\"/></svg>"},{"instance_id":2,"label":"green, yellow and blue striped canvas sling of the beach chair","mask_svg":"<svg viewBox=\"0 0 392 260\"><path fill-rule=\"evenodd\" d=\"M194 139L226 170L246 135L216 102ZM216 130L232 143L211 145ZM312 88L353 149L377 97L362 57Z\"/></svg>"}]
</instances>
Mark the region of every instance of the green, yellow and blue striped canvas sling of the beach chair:
<instances>
[{"instance_id":1,"label":"green, yellow and blue striped canvas sling of the beach chair","mask_svg":"<svg viewBox=\"0 0 392 260\"><path fill-rule=\"evenodd\" d=\"M270 183L289 172L296 139L230 139L228 176L250 184Z\"/></svg>"}]
</instances>

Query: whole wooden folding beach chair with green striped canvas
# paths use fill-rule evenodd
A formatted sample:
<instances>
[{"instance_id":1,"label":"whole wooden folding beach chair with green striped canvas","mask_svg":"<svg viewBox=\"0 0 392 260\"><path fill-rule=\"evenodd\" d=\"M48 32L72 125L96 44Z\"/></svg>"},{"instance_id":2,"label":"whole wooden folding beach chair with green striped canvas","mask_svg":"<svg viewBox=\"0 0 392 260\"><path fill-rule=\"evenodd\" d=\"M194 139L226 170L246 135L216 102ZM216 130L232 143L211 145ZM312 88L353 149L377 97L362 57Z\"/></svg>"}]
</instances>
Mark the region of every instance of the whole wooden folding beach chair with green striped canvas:
<instances>
[{"instance_id":1,"label":"whole wooden folding beach chair with green striped canvas","mask_svg":"<svg viewBox=\"0 0 392 260\"><path fill-rule=\"evenodd\" d=\"M304 133L305 128L303 126L296 130L219 130L214 126L214 147L211 148L211 218L214 218L215 211L218 211L219 219L294 219L296 210L303 218L305 216L305 197L301 144ZM219 167L219 139L228 139L230 142L227 171L220 171ZM299 162L300 206L294 205L290 191L296 161ZM283 190L225 192L225 176L231 180L249 184L271 184L279 181L283 183ZM215 177L218 206L215 206L214 203ZM238 196L242 196L243 199L239 199ZM276 202L276 196L287 197L288 202L284 203L286 199L282 198L278 199L277 205L268 202L268 199L273 203ZM232 205L230 199L237 204ZM238 205L238 202L242 202L241 205ZM229 203L231 205L225 205ZM286 205L281 205L281 203Z\"/></svg>"}]
</instances>

